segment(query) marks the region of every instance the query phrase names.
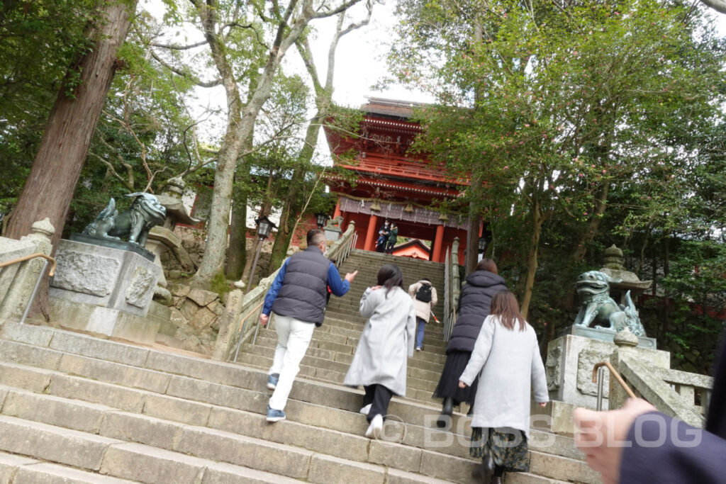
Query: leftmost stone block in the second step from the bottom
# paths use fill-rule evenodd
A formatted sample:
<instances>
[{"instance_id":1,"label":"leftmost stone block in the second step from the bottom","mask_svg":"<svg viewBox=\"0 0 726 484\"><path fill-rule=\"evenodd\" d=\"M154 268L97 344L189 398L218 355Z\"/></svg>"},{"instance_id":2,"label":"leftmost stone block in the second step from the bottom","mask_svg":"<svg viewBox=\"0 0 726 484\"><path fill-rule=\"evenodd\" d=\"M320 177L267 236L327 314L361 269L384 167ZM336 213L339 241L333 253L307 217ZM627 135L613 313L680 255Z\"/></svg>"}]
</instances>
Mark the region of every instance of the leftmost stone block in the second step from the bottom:
<instances>
[{"instance_id":1,"label":"leftmost stone block in the second step from the bottom","mask_svg":"<svg viewBox=\"0 0 726 484\"><path fill-rule=\"evenodd\" d=\"M81 469L98 470L118 440L0 415L0 450Z\"/></svg>"}]
</instances>

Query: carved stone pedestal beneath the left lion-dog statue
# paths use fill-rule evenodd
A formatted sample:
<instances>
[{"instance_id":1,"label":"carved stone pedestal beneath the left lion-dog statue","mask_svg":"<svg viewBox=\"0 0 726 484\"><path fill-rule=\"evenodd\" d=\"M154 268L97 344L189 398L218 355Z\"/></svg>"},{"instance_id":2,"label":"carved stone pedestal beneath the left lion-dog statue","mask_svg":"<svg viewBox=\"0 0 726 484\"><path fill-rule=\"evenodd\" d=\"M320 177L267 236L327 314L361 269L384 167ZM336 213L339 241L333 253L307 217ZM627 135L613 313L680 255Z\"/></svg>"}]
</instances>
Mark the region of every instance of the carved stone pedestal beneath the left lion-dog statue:
<instances>
[{"instance_id":1,"label":"carved stone pedestal beneath the left lion-dog statue","mask_svg":"<svg viewBox=\"0 0 726 484\"><path fill-rule=\"evenodd\" d=\"M159 322L147 313L161 268L141 255L62 239L49 290L65 327L153 343Z\"/></svg>"}]
</instances>

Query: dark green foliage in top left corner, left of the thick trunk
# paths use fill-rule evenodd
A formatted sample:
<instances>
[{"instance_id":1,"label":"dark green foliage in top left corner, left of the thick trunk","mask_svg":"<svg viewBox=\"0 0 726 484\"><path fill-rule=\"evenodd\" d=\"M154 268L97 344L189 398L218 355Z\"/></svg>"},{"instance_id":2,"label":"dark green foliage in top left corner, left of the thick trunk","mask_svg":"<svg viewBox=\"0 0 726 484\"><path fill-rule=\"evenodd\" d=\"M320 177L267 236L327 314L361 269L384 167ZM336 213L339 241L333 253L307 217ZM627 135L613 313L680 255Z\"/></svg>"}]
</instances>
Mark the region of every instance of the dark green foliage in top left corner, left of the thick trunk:
<instances>
[{"instance_id":1,"label":"dark green foliage in top left corner, left of the thick trunk","mask_svg":"<svg viewBox=\"0 0 726 484\"><path fill-rule=\"evenodd\" d=\"M71 66L89 49L96 1L0 4L0 213L17 200L46 120ZM41 56L41 57L39 57ZM70 67L70 69L69 69Z\"/></svg>"}]
</instances>

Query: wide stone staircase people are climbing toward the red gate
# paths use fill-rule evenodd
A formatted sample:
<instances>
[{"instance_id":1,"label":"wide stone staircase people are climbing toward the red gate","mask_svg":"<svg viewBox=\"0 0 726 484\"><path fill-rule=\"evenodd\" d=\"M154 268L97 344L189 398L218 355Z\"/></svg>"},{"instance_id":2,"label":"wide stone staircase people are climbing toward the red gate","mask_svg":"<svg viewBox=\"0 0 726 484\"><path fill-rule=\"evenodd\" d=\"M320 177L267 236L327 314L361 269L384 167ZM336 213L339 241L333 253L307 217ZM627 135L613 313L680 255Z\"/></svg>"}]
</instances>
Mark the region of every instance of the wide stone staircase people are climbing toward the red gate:
<instances>
[{"instance_id":1,"label":"wide stone staircase people are climbing toward the red gate","mask_svg":"<svg viewBox=\"0 0 726 484\"><path fill-rule=\"evenodd\" d=\"M443 293L438 264L354 251L340 268L360 269L354 287L331 299L287 420L275 424L265 421L274 331L244 345L234 364L2 324L0 484L473 482L468 419L454 414L451 431L434 424L440 326L428 325L424 350L409 360L410 394L391 401L383 440L363 437L362 392L340 385L364 324L359 297L383 261L399 263L406 285L425 274ZM550 430L531 430L531 473L505 482L599 483L572 439Z\"/></svg>"}]
</instances>

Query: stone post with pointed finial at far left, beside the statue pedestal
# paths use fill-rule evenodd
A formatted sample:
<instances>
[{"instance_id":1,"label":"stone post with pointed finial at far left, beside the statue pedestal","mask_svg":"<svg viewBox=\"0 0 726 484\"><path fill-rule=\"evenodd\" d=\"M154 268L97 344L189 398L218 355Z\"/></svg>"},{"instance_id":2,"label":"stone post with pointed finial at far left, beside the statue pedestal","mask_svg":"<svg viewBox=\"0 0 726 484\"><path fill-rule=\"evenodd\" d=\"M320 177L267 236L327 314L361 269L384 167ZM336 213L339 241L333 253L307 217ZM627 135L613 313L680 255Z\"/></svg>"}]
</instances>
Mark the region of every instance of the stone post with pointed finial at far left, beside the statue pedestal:
<instances>
[{"instance_id":1,"label":"stone post with pointed finial at far left, beside the statue pedestal","mask_svg":"<svg viewBox=\"0 0 726 484\"><path fill-rule=\"evenodd\" d=\"M44 218L42 221L33 223L30 234L20 237L20 242L28 242L32 245L33 248L30 253L50 255L53 250L51 237L53 237L54 233L55 228L50 223L50 219ZM36 257L29 261L18 263L19 267L17 268L15 277L12 279L12 284L5 298L2 300L0 320L20 320L23 317L25 307L30 303L30 296L36 287L38 277L41 276L41 270L45 262L46 260L44 258Z\"/></svg>"}]
</instances>

